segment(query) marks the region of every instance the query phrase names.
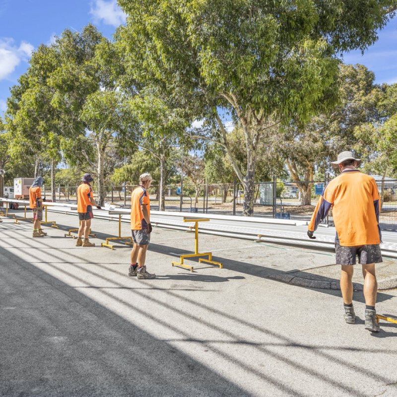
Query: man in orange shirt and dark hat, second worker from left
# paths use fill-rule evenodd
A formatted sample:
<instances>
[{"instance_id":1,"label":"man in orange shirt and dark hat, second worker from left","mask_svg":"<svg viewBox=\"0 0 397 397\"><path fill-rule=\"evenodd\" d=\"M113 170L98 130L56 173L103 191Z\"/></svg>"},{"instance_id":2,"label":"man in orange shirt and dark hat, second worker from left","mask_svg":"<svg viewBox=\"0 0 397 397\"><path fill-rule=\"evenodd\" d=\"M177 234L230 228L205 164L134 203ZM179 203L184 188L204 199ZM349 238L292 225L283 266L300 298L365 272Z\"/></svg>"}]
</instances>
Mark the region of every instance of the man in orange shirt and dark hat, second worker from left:
<instances>
[{"instance_id":1,"label":"man in orange shirt and dark hat, second worker from left","mask_svg":"<svg viewBox=\"0 0 397 397\"><path fill-rule=\"evenodd\" d=\"M91 219L94 217L92 213L92 206L98 209L101 207L94 200L94 192L90 182L93 179L90 174L84 174L81 178L82 184L77 188L77 212L80 220L80 227L78 229L76 247L95 247L94 243L88 240L91 229ZM84 240L81 239L84 233Z\"/></svg>"}]
</instances>

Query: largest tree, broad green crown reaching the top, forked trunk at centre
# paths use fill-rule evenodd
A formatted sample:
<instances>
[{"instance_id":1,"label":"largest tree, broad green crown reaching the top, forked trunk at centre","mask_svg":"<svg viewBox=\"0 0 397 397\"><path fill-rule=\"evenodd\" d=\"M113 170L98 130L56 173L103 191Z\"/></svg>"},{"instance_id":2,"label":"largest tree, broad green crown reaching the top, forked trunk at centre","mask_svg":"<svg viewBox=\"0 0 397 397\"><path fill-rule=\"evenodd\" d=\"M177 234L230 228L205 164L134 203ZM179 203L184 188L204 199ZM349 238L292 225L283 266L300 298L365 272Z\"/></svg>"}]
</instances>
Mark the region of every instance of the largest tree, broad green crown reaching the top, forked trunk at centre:
<instances>
[{"instance_id":1,"label":"largest tree, broad green crown reaching the top, forked trunk at centre","mask_svg":"<svg viewBox=\"0 0 397 397\"><path fill-rule=\"evenodd\" d=\"M336 54L376 41L395 0L119 0L127 24L117 40L127 69L178 98L195 119L216 123L253 214L258 143L271 121L305 122L337 101ZM244 130L241 169L222 121L229 110ZM193 120L192 120L193 121Z\"/></svg>"}]
</instances>

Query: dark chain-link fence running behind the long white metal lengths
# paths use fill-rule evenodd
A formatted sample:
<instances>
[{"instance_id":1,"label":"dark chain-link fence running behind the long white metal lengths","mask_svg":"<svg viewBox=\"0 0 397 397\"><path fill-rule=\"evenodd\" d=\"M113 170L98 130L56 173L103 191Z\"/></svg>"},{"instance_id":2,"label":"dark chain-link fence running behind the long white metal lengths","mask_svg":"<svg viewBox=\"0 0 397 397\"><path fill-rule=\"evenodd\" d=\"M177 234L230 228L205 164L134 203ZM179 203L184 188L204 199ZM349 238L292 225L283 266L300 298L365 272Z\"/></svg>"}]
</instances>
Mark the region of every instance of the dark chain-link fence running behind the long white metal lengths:
<instances>
[{"instance_id":1,"label":"dark chain-link fence running behind the long white metal lengths","mask_svg":"<svg viewBox=\"0 0 397 397\"><path fill-rule=\"evenodd\" d=\"M309 220L327 181L286 182L274 179L270 182L255 184L254 213L282 219ZM383 197L380 224L383 229L397 230L397 180L377 181L378 190ZM130 207L131 192L136 185L110 185L106 187L105 202ZM76 202L77 186L58 186L57 200ZM97 197L95 184L94 196ZM151 185L151 208L159 208L159 186ZM219 213L242 215L244 189L241 183L197 185L166 185L165 210L198 213ZM47 191L47 197L50 192ZM325 220L332 225L332 211Z\"/></svg>"}]
</instances>

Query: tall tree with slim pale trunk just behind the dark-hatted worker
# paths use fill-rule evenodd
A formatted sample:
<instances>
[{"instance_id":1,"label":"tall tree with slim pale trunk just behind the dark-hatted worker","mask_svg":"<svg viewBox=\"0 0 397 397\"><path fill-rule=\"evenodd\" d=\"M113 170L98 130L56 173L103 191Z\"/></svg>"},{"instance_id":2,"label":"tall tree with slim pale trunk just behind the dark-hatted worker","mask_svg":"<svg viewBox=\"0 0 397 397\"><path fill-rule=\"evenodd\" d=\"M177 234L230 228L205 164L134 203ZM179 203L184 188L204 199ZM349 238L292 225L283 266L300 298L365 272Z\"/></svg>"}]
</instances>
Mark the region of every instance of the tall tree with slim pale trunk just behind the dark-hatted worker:
<instances>
[{"instance_id":1,"label":"tall tree with slim pale trunk just behind the dark-hatted worker","mask_svg":"<svg viewBox=\"0 0 397 397\"><path fill-rule=\"evenodd\" d=\"M52 75L52 105L61 114L63 152L70 165L88 164L102 205L106 156L124 128L117 84L123 65L113 43L91 24L81 32L66 29L54 47L59 66Z\"/></svg>"}]
</instances>

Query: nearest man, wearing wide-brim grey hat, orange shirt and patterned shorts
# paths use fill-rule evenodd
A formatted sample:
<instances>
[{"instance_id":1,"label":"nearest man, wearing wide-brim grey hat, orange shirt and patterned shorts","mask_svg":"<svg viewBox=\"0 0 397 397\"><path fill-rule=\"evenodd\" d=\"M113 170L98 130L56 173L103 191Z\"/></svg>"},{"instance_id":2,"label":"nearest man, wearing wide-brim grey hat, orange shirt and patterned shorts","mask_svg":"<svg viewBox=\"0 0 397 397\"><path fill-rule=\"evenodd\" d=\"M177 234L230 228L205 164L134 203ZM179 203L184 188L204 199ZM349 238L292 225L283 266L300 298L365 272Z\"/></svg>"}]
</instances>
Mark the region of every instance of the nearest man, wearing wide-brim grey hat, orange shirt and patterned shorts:
<instances>
[{"instance_id":1,"label":"nearest man, wearing wide-brim grey hat, orange shirt and patterned shorts","mask_svg":"<svg viewBox=\"0 0 397 397\"><path fill-rule=\"evenodd\" d=\"M339 169L340 175L324 189L307 234L311 239L316 238L313 236L314 231L332 207L336 229L336 263L342 268L340 289L345 310L344 319L348 324L355 323L352 276L353 265L356 264L358 256L364 276L365 329L378 332L375 264L382 262L378 187L372 177L356 169L361 164L361 159L355 158L352 152L339 153L337 161L331 164Z\"/></svg>"}]
</instances>

